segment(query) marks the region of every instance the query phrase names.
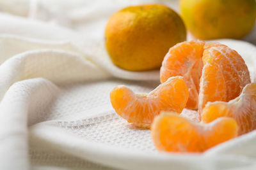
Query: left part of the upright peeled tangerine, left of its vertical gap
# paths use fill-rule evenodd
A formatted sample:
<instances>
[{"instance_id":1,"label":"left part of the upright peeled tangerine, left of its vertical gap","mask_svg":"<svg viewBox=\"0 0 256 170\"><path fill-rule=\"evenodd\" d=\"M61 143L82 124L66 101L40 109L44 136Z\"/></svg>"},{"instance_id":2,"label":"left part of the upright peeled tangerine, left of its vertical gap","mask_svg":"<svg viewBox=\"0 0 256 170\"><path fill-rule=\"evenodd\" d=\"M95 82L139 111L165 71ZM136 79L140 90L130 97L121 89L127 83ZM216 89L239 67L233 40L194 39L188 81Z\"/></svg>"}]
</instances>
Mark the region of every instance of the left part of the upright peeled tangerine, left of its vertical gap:
<instances>
[{"instance_id":1,"label":"left part of the upright peeled tangerine, left of its vertical gap","mask_svg":"<svg viewBox=\"0 0 256 170\"><path fill-rule=\"evenodd\" d=\"M170 48L160 69L161 83L172 76L183 76L188 85L189 99L186 108L197 110L199 82L202 72L204 41L186 41Z\"/></svg>"}]
</instances>

